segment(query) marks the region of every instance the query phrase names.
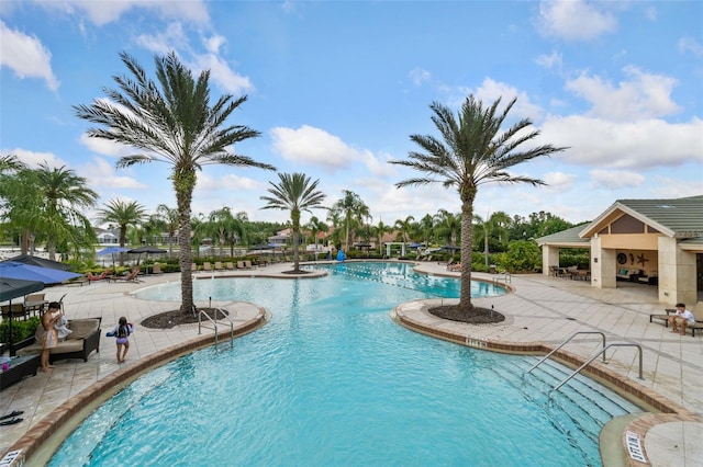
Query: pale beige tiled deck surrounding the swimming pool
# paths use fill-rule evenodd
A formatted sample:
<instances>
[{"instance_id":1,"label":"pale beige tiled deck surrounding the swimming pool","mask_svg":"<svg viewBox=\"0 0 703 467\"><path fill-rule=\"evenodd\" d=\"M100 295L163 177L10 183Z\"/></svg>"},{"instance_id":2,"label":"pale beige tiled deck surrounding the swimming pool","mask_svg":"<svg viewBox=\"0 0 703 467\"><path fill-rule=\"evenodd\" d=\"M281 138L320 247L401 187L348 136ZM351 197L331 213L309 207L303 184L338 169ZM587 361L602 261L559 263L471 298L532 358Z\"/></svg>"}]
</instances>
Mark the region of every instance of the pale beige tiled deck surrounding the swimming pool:
<instances>
[{"instance_id":1,"label":"pale beige tiled deck surrounding the swimming pool","mask_svg":"<svg viewBox=\"0 0 703 467\"><path fill-rule=\"evenodd\" d=\"M289 264L269 265L255 271L208 273L211 275L267 275L290 278L282 274ZM420 272L448 273L435 262L420 263ZM203 273L199 274L200 276ZM308 276L310 277L310 276ZM475 274L476 278L493 280L490 274ZM500 276L502 277L502 276ZM178 274L144 277L141 284L93 283L89 286L59 286L45 291L49 300L64 298L69 319L102 318L101 352L92 353L88 362L59 361L49 373L38 373L0 392L0 414L22 410L24 421L0 426L0 458L12 448L27 443L38 444L60 422L87 405L89 387L109 386L113 380L136 376L156 361L170 358L212 341L212 331L198 334L198 326L189 324L170 330L149 330L141 321L160 311L175 309L177 303L140 300L130 295L138 288L164 282L176 282ZM643 376L638 379L638 358L634 348L615 348L607 352L607 365L595 364L606 383L629 383L628 390L648 398L662 412L640 418L626 430L643 440L641 447L649 464L632 458L629 465L701 465L703 459L703 338L681 337L660 322L649 322L650 314L661 314L672 304L659 303L656 291L640 284L618 283L616 289L599 289L585 282L515 275L509 284L514 292L503 297L476 299L479 306L493 305L506 315L499 324L470 327L437 319L423 309L422 303L404 304L394 310L399 321L424 332L436 332L447 339L473 346L520 352L525 349L554 348L578 331L599 331L607 343L626 342L643 349ZM620 286L622 285L622 286ZM205 305L205 304L198 304ZM249 331L264 319L263 310L253 304L235 301L213 303L236 311L235 323L241 331ZM276 310L268 310L276 314ZM126 364L115 358L114 340L104 337L120 316L136 324L131 338ZM183 344L187 348L183 349ZM601 349L600 335L583 335L567 344L565 357L585 360ZM620 383L618 383L620 381ZM621 436L622 430L618 432ZM624 443L624 437L621 440ZM613 442L613 440L610 440ZM622 445L621 443L621 445ZM617 444L617 443L615 443Z\"/></svg>"}]
</instances>

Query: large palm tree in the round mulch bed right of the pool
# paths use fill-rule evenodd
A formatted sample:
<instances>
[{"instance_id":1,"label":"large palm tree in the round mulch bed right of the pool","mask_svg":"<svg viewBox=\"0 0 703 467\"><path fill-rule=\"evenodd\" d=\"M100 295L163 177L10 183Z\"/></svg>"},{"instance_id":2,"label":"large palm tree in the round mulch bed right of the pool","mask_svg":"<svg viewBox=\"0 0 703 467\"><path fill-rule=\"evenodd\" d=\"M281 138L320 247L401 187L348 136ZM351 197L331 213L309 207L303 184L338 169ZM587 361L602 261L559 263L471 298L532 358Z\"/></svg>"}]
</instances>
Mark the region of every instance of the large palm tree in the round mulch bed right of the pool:
<instances>
[{"instance_id":1,"label":"large palm tree in the round mulch bed right of the pool","mask_svg":"<svg viewBox=\"0 0 703 467\"><path fill-rule=\"evenodd\" d=\"M451 111L438 102L429 109L433 123L442 139L427 135L412 135L410 139L421 151L411 151L406 160L391 163L410 167L421 175L401 181L397 187L442 183L455 187L461 202L461 292L458 311L467 319L475 314L471 303L471 249L473 242L473 203L479 185L489 182L529 183L545 182L526 175L513 175L507 169L542 156L549 156L567 148L551 145L533 146L518 150L524 143L539 135L529 129L532 122L523 118L504 132L501 127L516 102L513 99L502 113L498 112L499 98L484 109L481 101L469 95L461 105L458 119Z\"/></svg>"}]
</instances>

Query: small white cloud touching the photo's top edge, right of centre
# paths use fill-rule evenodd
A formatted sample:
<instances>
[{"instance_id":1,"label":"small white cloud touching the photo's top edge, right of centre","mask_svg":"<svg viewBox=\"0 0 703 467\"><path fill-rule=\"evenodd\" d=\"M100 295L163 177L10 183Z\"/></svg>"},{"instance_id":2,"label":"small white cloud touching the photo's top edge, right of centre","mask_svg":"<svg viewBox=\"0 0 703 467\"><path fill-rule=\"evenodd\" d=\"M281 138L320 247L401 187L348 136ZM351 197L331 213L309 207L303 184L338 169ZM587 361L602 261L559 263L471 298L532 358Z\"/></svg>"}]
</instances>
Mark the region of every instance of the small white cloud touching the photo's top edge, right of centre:
<instances>
[{"instance_id":1,"label":"small white cloud touching the photo's top edge, right of centre","mask_svg":"<svg viewBox=\"0 0 703 467\"><path fill-rule=\"evenodd\" d=\"M545 0L539 3L537 30L568 41L591 41L617 29L607 2Z\"/></svg>"}]
</instances>

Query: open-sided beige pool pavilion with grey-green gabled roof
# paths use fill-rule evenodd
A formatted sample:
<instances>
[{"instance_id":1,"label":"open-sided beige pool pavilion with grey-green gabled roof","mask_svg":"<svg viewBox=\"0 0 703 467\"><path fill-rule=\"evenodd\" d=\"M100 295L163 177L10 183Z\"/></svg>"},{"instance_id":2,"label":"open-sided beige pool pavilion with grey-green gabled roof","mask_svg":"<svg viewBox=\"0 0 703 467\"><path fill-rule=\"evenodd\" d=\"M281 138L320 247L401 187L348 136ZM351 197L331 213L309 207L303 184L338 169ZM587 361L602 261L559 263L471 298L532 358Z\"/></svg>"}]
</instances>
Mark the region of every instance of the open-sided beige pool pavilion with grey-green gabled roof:
<instances>
[{"instance_id":1,"label":"open-sided beige pool pavilion with grey-green gabled roof","mask_svg":"<svg viewBox=\"0 0 703 467\"><path fill-rule=\"evenodd\" d=\"M703 291L703 195L618 200L596 219L537 239L543 274L559 265L560 248L590 249L591 285L617 280L658 287L659 300L695 305Z\"/></svg>"}]
</instances>

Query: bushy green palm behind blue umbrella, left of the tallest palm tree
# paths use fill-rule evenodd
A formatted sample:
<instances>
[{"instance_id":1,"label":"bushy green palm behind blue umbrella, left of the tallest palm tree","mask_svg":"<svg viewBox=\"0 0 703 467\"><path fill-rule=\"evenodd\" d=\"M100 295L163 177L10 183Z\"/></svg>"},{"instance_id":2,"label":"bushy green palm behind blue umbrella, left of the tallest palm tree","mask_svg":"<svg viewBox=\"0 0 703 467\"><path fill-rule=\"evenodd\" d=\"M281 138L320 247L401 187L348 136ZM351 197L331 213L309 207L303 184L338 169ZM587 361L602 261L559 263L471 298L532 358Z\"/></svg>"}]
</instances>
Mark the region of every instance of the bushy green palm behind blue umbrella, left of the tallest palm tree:
<instances>
[{"instance_id":1,"label":"bushy green palm behind blue umbrella, left of the tallest palm tree","mask_svg":"<svg viewBox=\"0 0 703 467\"><path fill-rule=\"evenodd\" d=\"M56 259L57 244L70 246L78 255L81 247L96 240L90 219L83 212L96 205L98 193L88 186L83 176L65 166L49 168L40 163L34 175L42 208L32 224L46 240L49 259Z\"/></svg>"}]
</instances>

